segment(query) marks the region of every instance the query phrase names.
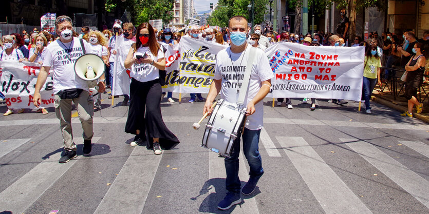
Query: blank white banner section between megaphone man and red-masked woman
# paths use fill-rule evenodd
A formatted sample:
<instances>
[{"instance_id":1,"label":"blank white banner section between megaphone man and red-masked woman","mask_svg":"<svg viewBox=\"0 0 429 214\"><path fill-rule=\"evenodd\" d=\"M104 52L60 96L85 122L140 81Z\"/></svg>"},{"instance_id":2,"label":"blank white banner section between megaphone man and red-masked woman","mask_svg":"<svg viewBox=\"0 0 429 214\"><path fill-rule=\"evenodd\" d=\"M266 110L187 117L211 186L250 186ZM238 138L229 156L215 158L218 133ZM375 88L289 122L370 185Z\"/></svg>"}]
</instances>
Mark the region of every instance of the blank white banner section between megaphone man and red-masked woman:
<instances>
[{"instance_id":1,"label":"blank white banner section between megaphone man and red-masked woman","mask_svg":"<svg viewBox=\"0 0 429 214\"><path fill-rule=\"evenodd\" d=\"M114 96L122 94L129 95L129 72L133 67L126 69L124 62L131 46L129 44L125 44L124 37L122 36L115 36L115 40L115 63L113 68L110 68L110 72L113 72L113 83L111 83L113 85L113 91L111 94Z\"/></svg>"}]
</instances>

